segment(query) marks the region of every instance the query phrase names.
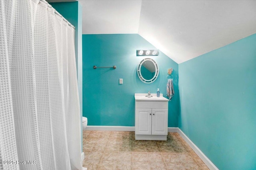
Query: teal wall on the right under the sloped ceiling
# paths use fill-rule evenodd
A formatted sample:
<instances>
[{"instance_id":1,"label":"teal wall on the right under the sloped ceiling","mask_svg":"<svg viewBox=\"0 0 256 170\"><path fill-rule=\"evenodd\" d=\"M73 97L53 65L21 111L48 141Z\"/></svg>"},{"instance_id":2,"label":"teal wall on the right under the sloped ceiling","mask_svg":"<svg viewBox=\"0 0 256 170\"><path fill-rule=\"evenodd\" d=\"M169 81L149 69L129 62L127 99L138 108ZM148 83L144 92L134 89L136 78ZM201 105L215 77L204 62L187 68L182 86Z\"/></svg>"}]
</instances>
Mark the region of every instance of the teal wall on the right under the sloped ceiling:
<instances>
[{"instance_id":1,"label":"teal wall on the right under the sloped ceiling","mask_svg":"<svg viewBox=\"0 0 256 170\"><path fill-rule=\"evenodd\" d=\"M180 129L220 170L256 169L256 34L179 64Z\"/></svg>"}]
</instances>

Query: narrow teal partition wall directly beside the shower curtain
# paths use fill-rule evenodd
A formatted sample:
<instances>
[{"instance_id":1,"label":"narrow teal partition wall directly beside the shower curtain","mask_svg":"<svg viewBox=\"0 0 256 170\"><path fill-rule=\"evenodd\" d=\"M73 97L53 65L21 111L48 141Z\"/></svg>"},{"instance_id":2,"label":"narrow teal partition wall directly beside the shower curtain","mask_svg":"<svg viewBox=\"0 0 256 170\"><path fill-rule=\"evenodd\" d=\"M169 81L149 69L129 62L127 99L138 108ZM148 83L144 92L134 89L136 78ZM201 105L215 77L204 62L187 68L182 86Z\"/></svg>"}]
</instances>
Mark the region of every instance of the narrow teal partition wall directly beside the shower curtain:
<instances>
[{"instance_id":1,"label":"narrow teal partition wall directly beside the shower curtain","mask_svg":"<svg viewBox=\"0 0 256 170\"><path fill-rule=\"evenodd\" d=\"M75 53L76 70L78 79L78 93L80 101L80 113L82 122L83 112L83 84L82 84L82 6L79 2L58 2L50 3L66 20L76 27L75 30ZM81 141L82 141L82 123L81 123ZM81 146L82 149L82 146Z\"/></svg>"}]
</instances>

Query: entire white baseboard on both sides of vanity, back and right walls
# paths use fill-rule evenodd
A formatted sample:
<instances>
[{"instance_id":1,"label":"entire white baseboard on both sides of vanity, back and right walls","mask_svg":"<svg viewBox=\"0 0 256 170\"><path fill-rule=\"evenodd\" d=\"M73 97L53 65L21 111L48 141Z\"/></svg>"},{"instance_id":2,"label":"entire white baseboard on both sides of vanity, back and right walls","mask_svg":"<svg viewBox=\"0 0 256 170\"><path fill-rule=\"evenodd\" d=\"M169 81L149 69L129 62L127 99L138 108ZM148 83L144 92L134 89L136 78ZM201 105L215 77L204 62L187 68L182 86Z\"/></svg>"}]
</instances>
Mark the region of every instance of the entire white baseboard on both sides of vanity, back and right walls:
<instances>
[{"instance_id":1,"label":"entire white baseboard on both sides of vanity, back and right walls","mask_svg":"<svg viewBox=\"0 0 256 170\"><path fill-rule=\"evenodd\" d=\"M135 131L134 126L91 126L86 127L86 131ZM178 127L168 127L168 132L177 132L188 143L188 145L196 152L199 158L208 166L210 170L218 170L218 168L205 156L205 154L183 133Z\"/></svg>"}]
</instances>

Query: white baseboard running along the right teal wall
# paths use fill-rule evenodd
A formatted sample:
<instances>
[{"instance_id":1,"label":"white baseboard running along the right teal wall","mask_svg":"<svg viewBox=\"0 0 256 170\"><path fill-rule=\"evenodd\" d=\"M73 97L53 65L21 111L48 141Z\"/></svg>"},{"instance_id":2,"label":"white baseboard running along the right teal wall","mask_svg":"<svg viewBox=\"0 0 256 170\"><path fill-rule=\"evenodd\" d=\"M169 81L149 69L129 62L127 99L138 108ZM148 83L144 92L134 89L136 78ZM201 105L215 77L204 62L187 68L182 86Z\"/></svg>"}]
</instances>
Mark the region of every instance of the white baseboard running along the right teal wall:
<instances>
[{"instance_id":1,"label":"white baseboard running along the right teal wall","mask_svg":"<svg viewBox=\"0 0 256 170\"><path fill-rule=\"evenodd\" d=\"M206 164L206 166L210 170L218 170L218 168L208 159L205 154L183 133L180 128L177 128L177 132L180 134L180 136L188 143L188 145L196 152L196 154L199 156L199 158L202 159L202 161Z\"/></svg>"}]
</instances>

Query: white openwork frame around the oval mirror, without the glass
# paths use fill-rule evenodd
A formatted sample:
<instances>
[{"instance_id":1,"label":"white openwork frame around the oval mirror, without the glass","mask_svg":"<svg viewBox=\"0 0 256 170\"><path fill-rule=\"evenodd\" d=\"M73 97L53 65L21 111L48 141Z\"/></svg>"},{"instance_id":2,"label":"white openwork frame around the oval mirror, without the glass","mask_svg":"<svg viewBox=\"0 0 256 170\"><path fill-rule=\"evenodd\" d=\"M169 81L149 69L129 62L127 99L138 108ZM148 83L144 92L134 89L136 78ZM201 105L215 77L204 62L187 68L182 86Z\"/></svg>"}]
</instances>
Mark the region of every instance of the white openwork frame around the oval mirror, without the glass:
<instances>
[{"instance_id":1,"label":"white openwork frame around the oval mirror, without the glass","mask_svg":"<svg viewBox=\"0 0 256 170\"><path fill-rule=\"evenodd\" d=\"M141 69L141 66L142 64L145 62L145 61L151 61L154 66L155 66L155 69L156 69L156 72L155 72L155 75L153 76L153 78L151 78L150 80L146 80L142 75L141 75L141 72L140 72L140 69ZM137 73L138 73L138 76L140 78L140 80L144 83L152 83L156 80L156 78L158 77L158 74L159 74L159 69L158 69L158 65L156 64L156 61L154 61L153 59L150 59L150 58L146 58L146 59L143 59L142 61L140 61L139 65L138 65L138 68L137 68Z\"/></svg>"}]
</instances>

